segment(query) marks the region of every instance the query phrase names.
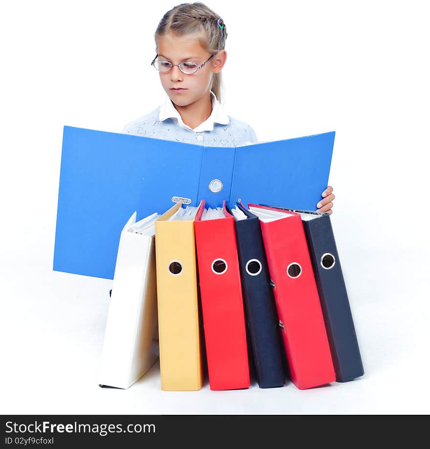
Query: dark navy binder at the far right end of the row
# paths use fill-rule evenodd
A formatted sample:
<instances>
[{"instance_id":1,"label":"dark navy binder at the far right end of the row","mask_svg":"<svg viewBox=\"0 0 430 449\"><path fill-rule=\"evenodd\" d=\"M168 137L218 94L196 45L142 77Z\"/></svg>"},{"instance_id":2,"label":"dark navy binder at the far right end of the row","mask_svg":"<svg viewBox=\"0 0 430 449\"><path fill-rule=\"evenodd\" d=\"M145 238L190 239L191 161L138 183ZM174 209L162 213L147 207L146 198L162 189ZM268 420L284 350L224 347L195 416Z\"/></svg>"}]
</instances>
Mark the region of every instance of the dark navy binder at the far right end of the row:
<instances>
[{"instance_id":1,"label":"dark navy binder at the far right end of the row","mask_svg":"<svg viewBox=\"0 0 430 449\"><path fill-rule=\"evenodd\" d=\"M285 210L301 214L336 372L336 381L348 382L363 376L363 363L330 214L287 208Z\"/></svg>"}]
</instances>

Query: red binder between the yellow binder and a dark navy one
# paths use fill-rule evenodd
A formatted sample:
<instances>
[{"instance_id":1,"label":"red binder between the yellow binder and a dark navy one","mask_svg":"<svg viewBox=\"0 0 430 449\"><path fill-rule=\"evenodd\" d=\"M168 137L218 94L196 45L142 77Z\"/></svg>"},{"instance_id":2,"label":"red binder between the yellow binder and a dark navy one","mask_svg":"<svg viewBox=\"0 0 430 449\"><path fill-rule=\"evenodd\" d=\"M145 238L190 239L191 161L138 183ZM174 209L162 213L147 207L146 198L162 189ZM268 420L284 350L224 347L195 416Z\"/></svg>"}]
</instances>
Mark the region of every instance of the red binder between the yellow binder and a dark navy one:
<instances>
[{"instance_id":1,"label":"red binder between the yellow binder and a dark navy one","mask_svg":"<svg viewBox=\"0 0 430 449\"><path fill-rule=\"evenodd\" d=\"M194 221L201 306L211 390L248 388L248 350L237 257L235 219Z\"/></svg>"}]
</instances>

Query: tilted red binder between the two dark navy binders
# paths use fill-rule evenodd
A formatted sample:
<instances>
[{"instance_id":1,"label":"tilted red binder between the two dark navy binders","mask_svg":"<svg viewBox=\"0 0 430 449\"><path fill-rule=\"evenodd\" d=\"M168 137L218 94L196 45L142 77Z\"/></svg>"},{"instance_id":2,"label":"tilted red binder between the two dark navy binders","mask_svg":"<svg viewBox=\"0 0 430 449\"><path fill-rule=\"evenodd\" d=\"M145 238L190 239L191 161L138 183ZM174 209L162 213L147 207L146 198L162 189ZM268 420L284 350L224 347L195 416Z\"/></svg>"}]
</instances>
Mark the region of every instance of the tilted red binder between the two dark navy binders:
<instances>
[{"instance_id":1,"label":"tilted red binder between the two dark navy binders","mask_svg":"<svg viewBox=\"0 0 430 449\"><path fill-rule=\"evenodd\" d=\"M260 219L290 377L299 389L336 380L317 285L300 214L248 204L250 208L286 213ZM253 211L251 211L253 212Z\"/></svg>"}]
</instances>

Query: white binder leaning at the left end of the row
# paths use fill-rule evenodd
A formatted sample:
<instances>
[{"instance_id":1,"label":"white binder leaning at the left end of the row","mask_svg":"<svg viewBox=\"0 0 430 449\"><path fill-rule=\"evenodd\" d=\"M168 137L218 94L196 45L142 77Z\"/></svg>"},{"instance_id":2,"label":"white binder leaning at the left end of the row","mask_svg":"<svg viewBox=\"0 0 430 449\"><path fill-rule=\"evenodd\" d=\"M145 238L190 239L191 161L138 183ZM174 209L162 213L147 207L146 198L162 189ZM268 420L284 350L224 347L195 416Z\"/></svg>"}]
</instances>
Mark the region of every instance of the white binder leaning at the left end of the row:
<instances>
[{"instance_id":1,"label":"white binder leaning at the left end of the row","mask_svg":"<svg viewBox=\"0 0 430 449\"><path fill-rule=\"evenodd\" d=\"M121 232L99 372L100 386L128 388L159 355L152 214Z\"/></svg>"}]
</instances>

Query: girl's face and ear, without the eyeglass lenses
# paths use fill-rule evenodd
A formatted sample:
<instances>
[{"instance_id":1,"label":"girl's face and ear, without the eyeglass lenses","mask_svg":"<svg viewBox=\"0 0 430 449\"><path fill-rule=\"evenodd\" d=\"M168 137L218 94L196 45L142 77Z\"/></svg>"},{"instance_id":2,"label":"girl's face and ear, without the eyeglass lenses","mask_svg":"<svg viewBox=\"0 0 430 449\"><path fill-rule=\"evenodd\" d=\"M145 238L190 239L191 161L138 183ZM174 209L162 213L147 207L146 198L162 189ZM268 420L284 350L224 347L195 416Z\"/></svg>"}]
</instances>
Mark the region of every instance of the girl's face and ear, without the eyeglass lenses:
<instances>
[{"instance_id":1,"label":"girl's face and ear, without the eyeglass lenses","mask_svg":"<svg viewBox=\"0 0 430 449\"><path fill-rule=\"evenodd\" d=\"M211 54L200 44L196 35L175 36L171 33L157 38L158 60L168 61L172 64L192 62L203 64ZM225 50L219 51L204 67L195 73L187 75L182 73L177 65L168 73L160 74L161 85L177 106L188 106L203 98L210 90L212 74L221 71L227 54ZM181 88L183 90L173 90Z\"/></svg>"}]
</instances>

